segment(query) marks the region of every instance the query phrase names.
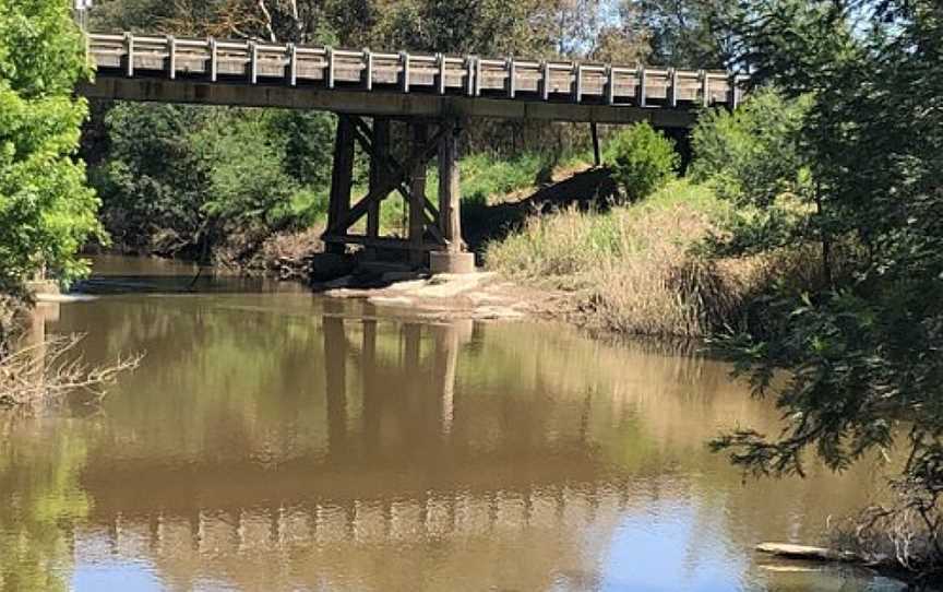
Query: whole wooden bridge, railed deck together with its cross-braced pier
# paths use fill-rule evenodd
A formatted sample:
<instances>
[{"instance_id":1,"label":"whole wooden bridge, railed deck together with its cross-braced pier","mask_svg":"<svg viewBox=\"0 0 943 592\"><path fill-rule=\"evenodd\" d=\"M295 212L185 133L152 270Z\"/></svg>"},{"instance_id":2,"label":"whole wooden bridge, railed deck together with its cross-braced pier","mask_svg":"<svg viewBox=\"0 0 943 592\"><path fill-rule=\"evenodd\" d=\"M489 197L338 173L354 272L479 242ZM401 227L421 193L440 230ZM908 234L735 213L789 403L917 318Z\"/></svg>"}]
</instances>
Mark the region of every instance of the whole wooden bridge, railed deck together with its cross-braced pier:
<instances>
[{"instance_id":1,"label":"whole wooden bridge, railed deck together with its cross-braced pier","mask_svg":"<svg viewBox=\"0 0 943 592\"><path fill-rule=\"evenodd\" d=\"M745 79L727 72L621 68L509 57L410 55L124 34L87 35L97 75L92 98L319 109L338 114L327 230L329 252L359 244L405 249L432 271L470 271L462 241L458 145L469 118L596 125L650 121L689 128L696 110L736 108ZM372 125L363 117L372 118ZM411 129L405 162L390 150L390 125ZM351 205L354 146L370 158L370 188ZM426 198L426 169L439 166L438 205ZM408 235L380 236L380 203L398 192ZM366 227L351 232L363 217ZM427 254L428 259L427 260Z\"/></svg>"}]
</instances>

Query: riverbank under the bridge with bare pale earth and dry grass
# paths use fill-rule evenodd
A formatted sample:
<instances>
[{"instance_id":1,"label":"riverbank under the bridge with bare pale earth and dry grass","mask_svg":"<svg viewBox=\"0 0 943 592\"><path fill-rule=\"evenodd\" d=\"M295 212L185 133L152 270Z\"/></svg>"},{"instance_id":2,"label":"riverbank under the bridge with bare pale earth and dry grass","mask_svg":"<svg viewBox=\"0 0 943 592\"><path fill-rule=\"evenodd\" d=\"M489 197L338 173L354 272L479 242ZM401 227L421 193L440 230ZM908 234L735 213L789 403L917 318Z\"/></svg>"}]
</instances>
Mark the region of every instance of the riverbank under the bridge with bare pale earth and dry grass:
<instances>
[{"instance_id":1,"label":"riverbank under the bridge with bare pale earth and dry grass","mask_svg":"<svg viewBox=\"0 0 943 592\"><path fill-rule=\"evenodd\" d=\"M516 185L466 205L468 241L484 262L474 280L351 275L321 257L320 228L273 236L250 264L230 267L420 316L529 316L604 333L684 339L749 322L774 276L809 280L802 277L809 253L799 249L706 254L704 240L723 232L731 206L704 185L680 179L641 202L612 205L608 173L578 163L558 167L542 187Z\"/></svg>"}]
</instances>

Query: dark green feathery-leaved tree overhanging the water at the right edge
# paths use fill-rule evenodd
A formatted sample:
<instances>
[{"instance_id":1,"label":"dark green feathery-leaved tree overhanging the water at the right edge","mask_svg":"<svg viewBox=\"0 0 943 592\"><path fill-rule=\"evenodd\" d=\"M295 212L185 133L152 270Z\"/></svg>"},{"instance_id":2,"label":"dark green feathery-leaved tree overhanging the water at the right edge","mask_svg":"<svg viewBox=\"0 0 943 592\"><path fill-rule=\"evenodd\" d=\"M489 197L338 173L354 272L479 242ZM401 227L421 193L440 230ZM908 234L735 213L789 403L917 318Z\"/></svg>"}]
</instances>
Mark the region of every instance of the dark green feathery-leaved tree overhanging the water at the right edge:
<instances>
[{"instance_id":1,"label":"dark green feathery-leaved tree overhanging the water at the right edge","mask_svg":"<svg viewBox=\"0 0 943 592\"><path fill-rule=\"evenodd\" d=\"M928 541L907 567L943 566L943 9L934 0L764 0L736 23L757 75L798 96L824 287L771 297L769 323L720 344L785 428L715 447L759 474L804 471L812 450L843 470L902 452L904 510ZM831 261L829 245L850 248ZM831 261L831 263L829 263ZM772 327L771 327L772 325ZM774 382L786 370L785 386ZM910 548L918 548L916 545Z\"/></svg>"}]
</instances>

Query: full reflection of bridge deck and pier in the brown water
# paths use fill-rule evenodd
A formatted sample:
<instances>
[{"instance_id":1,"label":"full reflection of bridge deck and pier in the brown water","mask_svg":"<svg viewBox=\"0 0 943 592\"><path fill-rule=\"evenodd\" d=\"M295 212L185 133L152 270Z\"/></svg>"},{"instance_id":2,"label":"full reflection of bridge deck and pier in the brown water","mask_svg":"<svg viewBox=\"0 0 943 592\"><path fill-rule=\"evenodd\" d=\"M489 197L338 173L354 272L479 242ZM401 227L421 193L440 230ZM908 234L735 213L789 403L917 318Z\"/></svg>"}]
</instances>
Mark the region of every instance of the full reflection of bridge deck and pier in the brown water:
<instances>
[{"instance_id":1,"label":"full reflection of bridge deck and pier in the brown water","mask_svg":"<svg viewBox=\"0 0 943 592\"><path fill-rule=\"evenodd\" d=\"M147 437L115 435L82 471L94 504L75 536L148 557L181 588L213 573L252 589L262 581L252 571L271 563L397 589L370 566L390 553L423 564L432 548L463 550L420 571L478 554L528 564L496 584L547 588L561 570L592 580L592 558L631 504L630 487L587 443L582 399L549 405L564 412L550 422L557 428L521 393L487 396L461 383L459 353L475 348L477 331L470 321L393 324L329 309L317 344L323 411L309 414L322 445L298 435L181 462L154 458ZM467 396L487 399L472 414Z\"/></svg>"}]
</instances>

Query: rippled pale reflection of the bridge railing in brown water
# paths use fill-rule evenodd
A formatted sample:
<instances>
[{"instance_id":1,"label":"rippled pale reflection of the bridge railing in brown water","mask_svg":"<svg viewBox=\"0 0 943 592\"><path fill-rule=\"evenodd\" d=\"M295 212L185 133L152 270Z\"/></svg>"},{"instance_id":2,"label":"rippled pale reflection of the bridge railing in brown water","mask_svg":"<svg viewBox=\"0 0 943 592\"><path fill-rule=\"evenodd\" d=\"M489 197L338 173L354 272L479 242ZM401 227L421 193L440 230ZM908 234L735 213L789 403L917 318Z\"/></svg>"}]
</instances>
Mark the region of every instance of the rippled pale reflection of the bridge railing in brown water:
<instances>
[{"instance_id":1,"label":"rippled pale reflection of the bridge railing in brown water","mask_svg":"<svg viewBox=\"0 0 943 592\"><path fill-rule=\"evenodd\" d=\"M397 500L206 509L190 516L118 511L106 517L96 512L95 524L112 550L127 556L140 556L143 549L158 555L218 555L318 545L457 541L560 529L576 536L587 528L609 530L629 504L624 492L590 483L523 494L440 493ZM100 530L103 526L107 530Z\"/></svg>"}]
</instances>

